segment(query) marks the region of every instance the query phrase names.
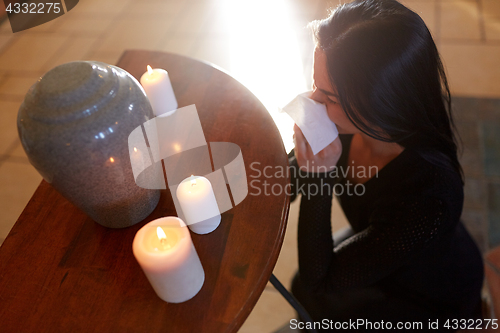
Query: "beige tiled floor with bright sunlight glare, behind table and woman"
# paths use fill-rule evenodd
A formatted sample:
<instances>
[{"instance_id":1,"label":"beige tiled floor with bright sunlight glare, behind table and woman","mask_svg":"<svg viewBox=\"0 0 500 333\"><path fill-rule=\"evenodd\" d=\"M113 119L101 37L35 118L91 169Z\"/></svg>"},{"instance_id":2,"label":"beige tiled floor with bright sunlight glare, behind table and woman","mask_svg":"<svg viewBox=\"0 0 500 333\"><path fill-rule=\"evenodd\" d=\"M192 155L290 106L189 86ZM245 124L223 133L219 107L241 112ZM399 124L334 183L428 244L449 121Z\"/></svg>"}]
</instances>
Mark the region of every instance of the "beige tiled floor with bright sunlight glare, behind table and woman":
<instances>
[{"instance_id":1,"label":"beige tiled floor with bright sunlight glare, behind table and woman","mask_svg":"<svg viewBox=\"0 0 500 333\"><path fill-rule=\"evenodd\" d=\"M500 1L405 0L433 33L449 75L464 141L463 218L483 250L500 243ZM80 0L66 15L13 34L0 25L0 243L41 177L17 139L24 94L50 68L72 60L114 64L125 49L171 51L210 61L277 113L311 83L313 44L307 22L338 1ZM168 70L168 69L167 69ZM292 204L275 275L286 285L297 269L298 203ZM334 229L345 224L339 209ZM294 312L273 287L264 291L241 332L273 332Z\"/></svg>"}]
</instances>

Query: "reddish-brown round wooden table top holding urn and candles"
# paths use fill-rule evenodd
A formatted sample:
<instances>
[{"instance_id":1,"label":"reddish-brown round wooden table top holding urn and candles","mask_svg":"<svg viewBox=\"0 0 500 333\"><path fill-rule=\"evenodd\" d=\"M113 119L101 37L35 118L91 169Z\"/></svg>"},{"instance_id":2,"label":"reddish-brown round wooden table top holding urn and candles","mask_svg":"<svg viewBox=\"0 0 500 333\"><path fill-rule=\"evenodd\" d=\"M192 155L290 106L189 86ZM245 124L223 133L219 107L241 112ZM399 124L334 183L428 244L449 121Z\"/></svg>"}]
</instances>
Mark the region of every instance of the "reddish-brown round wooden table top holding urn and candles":
<instances>
[{"instance_id":1,"label":"reddish-brown round wooden table top holding urn and candles","mask_svg":"<svg viewBox=\"0 0 500 333\"><path fill-rule=\"evenodd\" d=\"M231 76L191 58L134 50L117 66L139 79L148 64L169 72L179 107L196 104L207 142L240 146L247 179L254 181L214 232L191 233L206 275L202 289L187 302L166 303L132 254L144 224L176 215L169 191L162 191L145 220L108 229L42 181L0 247L0 331L235 332L264 290L289 209L288 196L277 190L285 188L286 176L266 178L257 171L288 166L271 116Z\"/></svg>"}]
</instances>

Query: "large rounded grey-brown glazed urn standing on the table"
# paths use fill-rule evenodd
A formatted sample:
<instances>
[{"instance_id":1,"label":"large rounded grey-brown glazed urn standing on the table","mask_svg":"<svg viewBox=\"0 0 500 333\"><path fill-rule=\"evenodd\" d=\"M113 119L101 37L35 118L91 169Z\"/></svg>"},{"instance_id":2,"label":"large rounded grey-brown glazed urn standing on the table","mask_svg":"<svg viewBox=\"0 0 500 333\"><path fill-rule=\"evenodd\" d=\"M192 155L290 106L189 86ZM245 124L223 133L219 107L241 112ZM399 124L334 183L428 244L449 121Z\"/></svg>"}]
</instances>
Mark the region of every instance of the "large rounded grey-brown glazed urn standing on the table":
<instances>
[{"instance_id":1,"label":"large rounded grey-brown glazed urn standing on the table","mask_svg":"<svg viewBox=\"0 0 500 333\"><path fill-rule=\"evenodd\" d=\"M28 91L17 125L31 164L97 223L131 226L157 206L159 190L136 185L128 136L153 118L137 80L93 61L60 65ZM69 223L70 221L68 221Z\"/></svg>"}]
</instances>

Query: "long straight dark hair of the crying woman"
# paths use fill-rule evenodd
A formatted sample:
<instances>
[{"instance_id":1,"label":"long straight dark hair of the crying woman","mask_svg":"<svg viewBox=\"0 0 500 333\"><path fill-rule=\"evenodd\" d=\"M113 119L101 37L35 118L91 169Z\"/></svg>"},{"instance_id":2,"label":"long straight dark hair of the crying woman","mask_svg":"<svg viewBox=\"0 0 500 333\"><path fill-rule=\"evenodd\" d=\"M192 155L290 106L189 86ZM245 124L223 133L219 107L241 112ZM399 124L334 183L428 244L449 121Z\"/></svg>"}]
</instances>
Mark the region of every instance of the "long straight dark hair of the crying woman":
<instances>
[{"instance_id":1,"label":"long straight dark hair of the crying woman","mask_svg":"<svg viewBox=\"0 0 500 333\"><path fill-rule=\"evenodd\" d=\"M356 0L312 26L330 81L354 125L457 171L463 180L450 90L420 16L395 0Z\"/></svg>"}]
</instances>

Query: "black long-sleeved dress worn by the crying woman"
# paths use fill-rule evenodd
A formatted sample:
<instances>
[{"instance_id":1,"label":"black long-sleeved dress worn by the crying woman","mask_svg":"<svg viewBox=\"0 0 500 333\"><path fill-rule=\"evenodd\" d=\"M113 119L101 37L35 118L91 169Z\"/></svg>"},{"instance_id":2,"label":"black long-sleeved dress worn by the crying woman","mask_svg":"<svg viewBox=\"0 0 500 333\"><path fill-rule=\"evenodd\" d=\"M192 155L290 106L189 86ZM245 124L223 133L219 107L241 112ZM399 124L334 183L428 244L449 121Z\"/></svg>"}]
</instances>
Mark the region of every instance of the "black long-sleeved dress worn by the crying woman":
<instances>
[{"instance_id":1,"label":"black long-sleeved dress worn by the crying woman","mask_svg":"<svg viewBox=\"0 0 500 333\"><path fill-rule=\"evenodd\" d=\"M438 320L440 330L450 332L443 328L447 319L480 318L483 262L460 221L459 175L405 149L356 195L343 175L352 172L352 165L347 169L351 139L341 135L339 177L325 183L334 179L335 193L343 192L338 197L355 234L333 244L327 187L334 183L316 195L308 195L304 186L294 295L314 321L420 321L423 326L415 331L425 331L429 320ZM318 184L318 179L305 177L300 183Z\"/></svg>"}]
</instances>

